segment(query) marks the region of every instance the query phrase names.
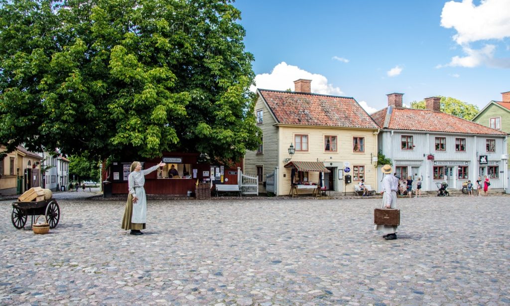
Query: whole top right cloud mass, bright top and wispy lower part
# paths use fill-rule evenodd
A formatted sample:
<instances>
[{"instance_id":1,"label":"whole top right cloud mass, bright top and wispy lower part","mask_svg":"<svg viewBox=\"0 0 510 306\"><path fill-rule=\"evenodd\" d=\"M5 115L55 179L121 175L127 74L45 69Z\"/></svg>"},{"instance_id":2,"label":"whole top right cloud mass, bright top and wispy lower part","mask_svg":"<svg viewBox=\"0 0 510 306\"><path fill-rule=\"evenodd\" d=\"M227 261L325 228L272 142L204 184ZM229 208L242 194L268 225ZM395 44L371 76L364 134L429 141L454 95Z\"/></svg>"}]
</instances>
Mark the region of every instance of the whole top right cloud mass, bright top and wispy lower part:
<instances>
[{"instance_id":1,"label":"whole top right cloud mass, bright top and wispy lower part","mask_svg":"<svg viewBox=\"0 0 510 306\"><path fill-rule=\"evenodd\" d=\"M441 26L454 29L453 40L460 46L465 56L454 56L450 63L436 68L489 67L508 68L510 59L494 58L495 42L481 49L473 49L470 43L484 40L502 40L510 37L510 0L481 0L478 6L473 0L449 1L443 6Z\"/></svg>"}]
</instances>

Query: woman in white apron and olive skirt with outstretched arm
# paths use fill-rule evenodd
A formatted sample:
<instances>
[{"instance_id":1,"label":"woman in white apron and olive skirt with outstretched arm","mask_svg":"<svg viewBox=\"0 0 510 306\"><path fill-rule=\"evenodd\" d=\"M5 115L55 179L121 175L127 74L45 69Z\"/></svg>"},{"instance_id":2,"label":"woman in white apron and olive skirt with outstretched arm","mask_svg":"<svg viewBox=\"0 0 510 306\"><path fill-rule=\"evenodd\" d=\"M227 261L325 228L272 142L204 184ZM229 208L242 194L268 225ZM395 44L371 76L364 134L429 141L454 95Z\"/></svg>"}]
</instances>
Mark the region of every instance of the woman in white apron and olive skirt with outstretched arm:
<instances>
[{"instance_id":1,"label":"woman in white apron and olive skirt with outstretched arm","mask_svg":"<svg viewBox=\"0 0 510 306\"><path fill-rule=\"evenodd\" d=\"M129 195L127 195L126 207L124 209L124 217L122 218L122 228L131 230L131 235L142 235L140 230L145 230L145 222L147 219L147 199L145 197L145 175L166 165L160 163L156 166L142 170L140 162L133 162L130 168L130 174L127 177Z\"/></svg>"}]
</instances>

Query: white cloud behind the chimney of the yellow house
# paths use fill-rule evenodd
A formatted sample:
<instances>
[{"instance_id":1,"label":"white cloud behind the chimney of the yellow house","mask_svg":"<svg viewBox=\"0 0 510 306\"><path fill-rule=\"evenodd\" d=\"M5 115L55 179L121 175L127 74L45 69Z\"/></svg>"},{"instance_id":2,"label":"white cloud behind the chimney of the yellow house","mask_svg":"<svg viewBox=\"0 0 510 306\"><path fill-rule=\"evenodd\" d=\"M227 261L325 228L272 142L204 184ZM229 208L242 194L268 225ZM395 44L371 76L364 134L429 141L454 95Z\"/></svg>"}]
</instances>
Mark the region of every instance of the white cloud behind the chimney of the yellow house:
<instances>
[{"instance_id":1,"label":"white cloud behind the chimney of the yellow house","mask_svg":"<svg viewBox=\"0 0 510 306\"><path fill-rule=\"evenodd\" d=\"M300 69L298 66L288 65L286 62L281 62L274 66L271 73L257 74L255 77L256 86L252 86L250 90L256 91L257 88L287 90L290 88L294 91L294 81L298 79L312 80L311 87L313 93L343 94L339 87L328 84L324 75L308 72Z\"/></svg>"}]
</instances>

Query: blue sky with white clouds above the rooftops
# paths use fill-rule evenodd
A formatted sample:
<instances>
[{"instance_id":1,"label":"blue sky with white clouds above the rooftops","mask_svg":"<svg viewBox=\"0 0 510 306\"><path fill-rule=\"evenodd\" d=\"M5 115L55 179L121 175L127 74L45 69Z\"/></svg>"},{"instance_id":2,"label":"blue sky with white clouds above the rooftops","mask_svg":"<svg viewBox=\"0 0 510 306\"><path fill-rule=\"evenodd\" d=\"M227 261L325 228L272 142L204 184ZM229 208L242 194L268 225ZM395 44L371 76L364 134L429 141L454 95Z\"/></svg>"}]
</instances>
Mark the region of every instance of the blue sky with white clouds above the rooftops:
<instances>
[{"instance_id":1,"label":"blue sky with white clouds above the rooftops","mask_svg":"<svg viewBox=\"0 0 510 306\"><path fill-rule=\"evenodd\" d=\"M237 0L258 88L354 97L367 111L451 96L480 109L510 91L510 0Z\"/></svg>"}]
</instances>

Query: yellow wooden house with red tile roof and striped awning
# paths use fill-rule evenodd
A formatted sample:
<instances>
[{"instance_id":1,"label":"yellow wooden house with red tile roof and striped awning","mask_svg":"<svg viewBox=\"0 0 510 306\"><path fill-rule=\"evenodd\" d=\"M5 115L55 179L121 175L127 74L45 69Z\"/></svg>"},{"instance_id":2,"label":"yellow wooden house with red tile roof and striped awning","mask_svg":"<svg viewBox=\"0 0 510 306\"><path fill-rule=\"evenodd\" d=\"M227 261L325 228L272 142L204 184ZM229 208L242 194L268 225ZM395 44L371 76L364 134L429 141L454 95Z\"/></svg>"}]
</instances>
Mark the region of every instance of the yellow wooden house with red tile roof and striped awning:
<instances>
[{"instance_id":1,"label":"yellow wooden house with red tile roof and striped awning","mask_svg":"<svg viewBox=\"0 0 510 306\"><path fill-rule=\"evenodd\" d=\"M351 193L362 179L375 186L377 124L352 97L314 94L310 80L294 83L294 92L257 90L254 111L262 144L246 152L244 171L259 176L260 192L266 190L266 175L273 173L276 195L289 194L292 184L320 184L320 177L326 190L336 192ZM289 163L296 161L317 163L325 170L295 169L291 182ZM346 174L350 184L344 182Z\"/></svg>"}]
</instances>

